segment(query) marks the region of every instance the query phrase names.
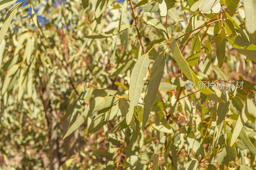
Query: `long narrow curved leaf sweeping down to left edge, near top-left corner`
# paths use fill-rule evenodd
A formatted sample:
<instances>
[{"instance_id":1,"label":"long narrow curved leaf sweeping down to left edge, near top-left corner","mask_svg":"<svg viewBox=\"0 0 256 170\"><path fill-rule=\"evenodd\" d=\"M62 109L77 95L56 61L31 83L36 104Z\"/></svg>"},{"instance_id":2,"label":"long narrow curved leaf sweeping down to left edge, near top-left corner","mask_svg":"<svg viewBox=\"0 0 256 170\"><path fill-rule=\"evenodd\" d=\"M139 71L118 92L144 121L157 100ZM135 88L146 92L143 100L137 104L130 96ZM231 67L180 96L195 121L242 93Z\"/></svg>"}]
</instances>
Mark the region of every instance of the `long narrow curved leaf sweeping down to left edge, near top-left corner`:
<instances>
[{"instance_id":1,"label":"long narrow curved leaf sweeping down to left edge, near top-left corner","mask_svg":"<svg viewBox=\"0 0 256 170\"><path fill-rule=\"evenodd\" d=\"M2 2L2 1L1 1ZM4 39L4 35L6 34L11 22L12 22L12 18L17 10L17 8L19 8L21 5L23 4L23 2L19 2L17 4L15 4L6 14L4 21L3 21L3 25L1 26L1 30L0 30L0 44L2 43L3 39Z\"/></svg>"}]
</instances>

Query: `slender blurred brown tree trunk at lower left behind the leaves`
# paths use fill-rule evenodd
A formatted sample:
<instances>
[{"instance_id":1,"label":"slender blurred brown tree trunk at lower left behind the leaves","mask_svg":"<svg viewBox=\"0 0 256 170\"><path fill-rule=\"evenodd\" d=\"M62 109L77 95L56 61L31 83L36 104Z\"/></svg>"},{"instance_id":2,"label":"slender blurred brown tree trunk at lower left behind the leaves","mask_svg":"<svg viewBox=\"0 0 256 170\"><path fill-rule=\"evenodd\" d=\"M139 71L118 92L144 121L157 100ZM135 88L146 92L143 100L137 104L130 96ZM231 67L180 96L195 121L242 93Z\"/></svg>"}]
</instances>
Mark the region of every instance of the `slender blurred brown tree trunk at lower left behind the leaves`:
<instances>
[{"instance_id":1,"label":"slender blurred brown tree trunk at lower left behind the leaves","mask_svg":"<svg viewBox=\"0 0 256 170\"><path fill-rule=\"evenodd\" d=\"M60 155L58 147L58 123L56 120L56 112L52 108L51 92L48 78L45 74L41 78L40 88L41 100L44 105L45 117L48 125L48 137L50 145L50 167L51 170L58 170L60 167Z\"/></svg>"}]
</instances>

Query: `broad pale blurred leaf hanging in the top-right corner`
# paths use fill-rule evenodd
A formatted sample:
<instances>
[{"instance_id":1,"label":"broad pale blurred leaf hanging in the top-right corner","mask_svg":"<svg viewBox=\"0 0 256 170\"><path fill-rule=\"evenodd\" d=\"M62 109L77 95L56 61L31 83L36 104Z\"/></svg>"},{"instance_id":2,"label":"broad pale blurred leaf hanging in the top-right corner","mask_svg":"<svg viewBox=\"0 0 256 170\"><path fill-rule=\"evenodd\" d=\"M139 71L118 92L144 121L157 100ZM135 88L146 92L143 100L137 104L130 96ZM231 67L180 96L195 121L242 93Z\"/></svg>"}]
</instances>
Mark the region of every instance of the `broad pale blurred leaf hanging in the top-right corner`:
<instances>
[{"instance_id":1,"label":"broad pale blurred leaf hanging in the top-right corner","mask_svg":"<svg viewBox=\"0 0 256 170\"><path fill-rule=\"evenodd\" d=\"M249 33L256 31L256 1L244 0L245 27Z\"/></svg>"}]
</instances>

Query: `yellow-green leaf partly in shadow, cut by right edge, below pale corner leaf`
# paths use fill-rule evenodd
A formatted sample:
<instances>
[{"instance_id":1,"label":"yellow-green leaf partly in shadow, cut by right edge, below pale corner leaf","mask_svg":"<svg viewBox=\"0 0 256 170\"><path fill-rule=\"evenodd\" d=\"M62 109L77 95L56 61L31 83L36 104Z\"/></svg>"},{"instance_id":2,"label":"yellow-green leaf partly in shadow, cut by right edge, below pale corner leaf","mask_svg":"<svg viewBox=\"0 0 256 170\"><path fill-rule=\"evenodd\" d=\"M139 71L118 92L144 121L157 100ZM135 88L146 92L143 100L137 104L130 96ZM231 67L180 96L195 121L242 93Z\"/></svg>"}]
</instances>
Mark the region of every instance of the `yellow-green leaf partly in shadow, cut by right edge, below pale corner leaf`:
<instances>
[{"instance_id":1,"label":"yellow-green leaf partly in shadow, cut by right edge, below pale corner leaf","mask_svg":"<svg viewBox=\"0 0 256 170\"><path fill-rule=\"evenodd\" d=\"M246 56L253 62L256 62L256 46L251 44L249 41L241 36L233 36L227 38L229 43L235 48L237 52Z\"/></svg>"}]
</instances>

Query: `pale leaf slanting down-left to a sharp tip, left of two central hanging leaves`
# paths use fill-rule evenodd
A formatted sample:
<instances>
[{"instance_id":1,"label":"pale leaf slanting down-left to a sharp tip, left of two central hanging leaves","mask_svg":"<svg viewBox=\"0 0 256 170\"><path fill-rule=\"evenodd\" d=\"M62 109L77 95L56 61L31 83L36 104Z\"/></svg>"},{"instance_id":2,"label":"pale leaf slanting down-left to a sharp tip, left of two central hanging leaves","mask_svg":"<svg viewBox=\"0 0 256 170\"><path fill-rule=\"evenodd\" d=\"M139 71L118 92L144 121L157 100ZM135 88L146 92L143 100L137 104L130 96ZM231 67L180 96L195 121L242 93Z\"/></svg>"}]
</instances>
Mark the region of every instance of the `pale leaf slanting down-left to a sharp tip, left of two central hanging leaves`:
<instances>
[{"instance_id":1,"label":"pale leaf slanting down-left to a sharp tip, left of two central hanging leaves","mask_svg":"<svg viewBox=\"0 0 256 170\"><path fill-rule=\"evenodd\" d=\"M65 139L68 137L72 132L74 132L81 124L83 124L84 121L87 120L87 118L96 111L99 111L100 109L104 108L105 105L105 99L106 97L96 97L94 98L91 103L85 108L84 112L77 118L77 120L71 125L71 127L68 129L67 133L63 137Z\"/></svg>"}]
</instances>

